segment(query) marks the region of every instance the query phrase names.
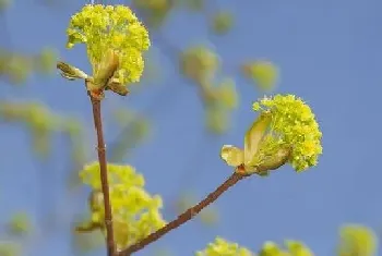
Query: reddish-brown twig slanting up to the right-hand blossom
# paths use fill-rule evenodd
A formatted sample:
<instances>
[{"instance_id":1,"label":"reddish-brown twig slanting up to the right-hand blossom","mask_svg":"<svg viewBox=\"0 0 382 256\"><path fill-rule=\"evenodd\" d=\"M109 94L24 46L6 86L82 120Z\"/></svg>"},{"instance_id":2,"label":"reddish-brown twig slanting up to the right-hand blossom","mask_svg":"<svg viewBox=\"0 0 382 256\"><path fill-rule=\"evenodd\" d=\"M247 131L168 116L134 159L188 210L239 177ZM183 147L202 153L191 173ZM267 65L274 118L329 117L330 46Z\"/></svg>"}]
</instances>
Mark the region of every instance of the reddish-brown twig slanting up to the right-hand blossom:
<instances>
[{"instance_id":1,"label":"reddish-brown twig slanting up to the right-hand blossom","mask_svg":"<svg viewBox=\"0 0 382 256\"><path fill-rule=\"evenodd\" d=\"M238 172L234 172L222 185L219 185L214 192L208 194L203 200L201 200L198 205L189 208L183 214L179 215L177 219L167 223L164 228L157 230L156 232L150 234L145 239L141 240L136 244L131 245L127 249L120 252L119 256L130 256L132 253L135 253L142 249L144 246L157 241L171 230L178 228L179 225L186 223L191 220L195 215L198 215L203 208L215 202L224 192L226 192L229 187L235 185L241 179L246 178L246 175L240 174Z\"/></svg>"}]
</instances>

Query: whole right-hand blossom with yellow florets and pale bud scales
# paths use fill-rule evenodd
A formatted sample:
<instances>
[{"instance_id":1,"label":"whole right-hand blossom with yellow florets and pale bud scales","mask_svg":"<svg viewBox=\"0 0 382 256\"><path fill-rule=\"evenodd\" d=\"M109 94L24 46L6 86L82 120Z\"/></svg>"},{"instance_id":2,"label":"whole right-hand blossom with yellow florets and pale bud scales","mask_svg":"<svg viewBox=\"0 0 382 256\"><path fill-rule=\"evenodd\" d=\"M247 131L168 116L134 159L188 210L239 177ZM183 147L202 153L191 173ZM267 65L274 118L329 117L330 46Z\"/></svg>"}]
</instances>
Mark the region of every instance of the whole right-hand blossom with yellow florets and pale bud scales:
<instances>
[{"instance_id":1,"label":"whole right-hand blossom with yellow florets and pale bud scales","mask_svg":"<svg viewBox=\"0 0 382 256\"><path fill-rule=\"evenodd\" d=\"M276 95L253 103L261 114L244 137L243 150L230 145L222 158L247 174L267 172L290 162L297 171L318 163L322 154L319 124L310 107L294 95Z\"/></svg>"}]
</instances>

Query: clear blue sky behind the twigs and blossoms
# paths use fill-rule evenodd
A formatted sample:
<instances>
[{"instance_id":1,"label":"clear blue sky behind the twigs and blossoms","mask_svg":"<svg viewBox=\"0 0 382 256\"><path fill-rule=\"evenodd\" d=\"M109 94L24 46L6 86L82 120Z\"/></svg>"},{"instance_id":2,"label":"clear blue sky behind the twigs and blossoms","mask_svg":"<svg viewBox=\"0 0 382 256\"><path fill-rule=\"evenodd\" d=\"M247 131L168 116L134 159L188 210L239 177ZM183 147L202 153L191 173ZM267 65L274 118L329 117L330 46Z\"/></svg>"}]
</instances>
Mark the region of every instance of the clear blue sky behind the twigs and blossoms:
<instances>
[{"instance_id":1,"label":"clear blue sky behind the twigs and blossoms","mask_svg":"<svg viewBox=\"0 0 382 256\"><path fill-rule=\"evenodd\" d=\"M280 69L275 93L296 94L312 107L323 132L323 156L317 168L301 174L287 166L267 179L253 176L239 183L215 203L220 212L218 227L207 229L190 221L136 255L152 255L160 245L170 246L176 255L192 255L220 235L253 251L267 240L297 239L315 255L326 256L335 255L338 228L344 223L361 223L380 232L382 2L213 2L235 14L235 27L227 36L211 35L205 16L183 11L171 13L160 33L180 49L195 42L214 46L225 74L235 75L240 93L232 129L220 137L206 134L195 86L179 75L177 59L164 51L160 38L153 33L151 56L160 64L160 81L127 98L108 95L106 100L109 107L115 102L131 106L153 123L152 139L136 148L124 163L145 175L147 190L163 195L165 206L182 187L198 191L199 196L214 190L231 172L219 159L222 145L242 145L243 134L256 117L251 102L263 95L239 75L238 66L244 60L259 58L268 59ZM85 3L68 0L48 8L37 0L15 0L1 17L0 44L24 52L37 52L50 45L59 49L63 60L89 71L83 47L64 48L70 15ZM82 86L59 75L34 76L25 88L2 83L0 92L2 98L36 99L53 111L83 118L91 142L95 143L91 107ZM117 134L106 127L107 142L116 139ZM57 207L61 216L85 209L85 188L82 196L60 199L68 174L68 147L63 139L55 142L53 158L48 163L34 159L28 139L20 125L0 126L1 222L23 209L38 223L44 218L41 193L47 195L45 207ZM94 160L95 151L89 151L89 156ZM170 217L166 215L167 219ZM48 236L28 242L25 255L72 255L69 228L68 220L63 221Z\"/></svg>"}]
</instances>

